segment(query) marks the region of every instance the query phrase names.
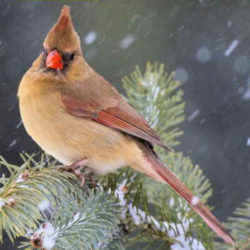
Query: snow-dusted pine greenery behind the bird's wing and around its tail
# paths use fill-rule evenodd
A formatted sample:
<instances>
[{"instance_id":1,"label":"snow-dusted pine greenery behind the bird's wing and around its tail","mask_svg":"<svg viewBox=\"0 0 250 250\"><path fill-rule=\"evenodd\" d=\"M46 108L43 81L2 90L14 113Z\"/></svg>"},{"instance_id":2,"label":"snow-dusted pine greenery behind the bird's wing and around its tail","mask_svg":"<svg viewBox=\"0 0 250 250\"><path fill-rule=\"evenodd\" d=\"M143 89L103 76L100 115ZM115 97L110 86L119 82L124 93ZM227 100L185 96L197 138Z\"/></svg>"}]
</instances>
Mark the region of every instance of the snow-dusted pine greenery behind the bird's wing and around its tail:
<instances>
[{"instance_id":1,"label":"snow-dusted pine greenery behind the bird's wing and around its tail","mask_svg":"<svg viewBox=\"0 0 250 250\"><path fill-rule=\"evenodd\" d=\"M182 131L177 125L184 120L183 92L173 74L164 66L148 63L145 73L138 67L123 79L128 101L154 127L167 145L177 145ZM162 160L203 202L211 196L210 182L199 166L182 154L166 154L159 148ZM104 178L103 185L118 195L123 207L123 221L127 225L127 247L135 248L139 241L145 249L166 249L171 245L186 244L189 249L213 249L213 234L187 205L166 185L158 184L130 169ZM106 183L106 184L105 184ZM124 190L126 191L123 194ZM201 244L202 242L202 244ZM158 248L156 248L156 245ZM133 246L133 247L131 247ZM140 249L144 249L140 245Z\"/></svg>"}]
</instances>

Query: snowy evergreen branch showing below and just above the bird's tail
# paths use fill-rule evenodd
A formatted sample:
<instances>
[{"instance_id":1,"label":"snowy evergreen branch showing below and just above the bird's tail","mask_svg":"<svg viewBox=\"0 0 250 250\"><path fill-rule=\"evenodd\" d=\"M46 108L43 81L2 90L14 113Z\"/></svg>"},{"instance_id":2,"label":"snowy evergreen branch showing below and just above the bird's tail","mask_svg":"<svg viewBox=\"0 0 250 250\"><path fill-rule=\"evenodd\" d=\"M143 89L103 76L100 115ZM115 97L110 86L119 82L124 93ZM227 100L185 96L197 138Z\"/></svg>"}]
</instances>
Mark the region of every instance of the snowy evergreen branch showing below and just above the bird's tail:
<instances>
[{"instance_id":1,"label":"snowy evergreen branch showing below and just above the bird's tail","mask_svg":"<svg viewBox=\"0 0 250 250\"><path fill-rule=\"evenodd\" d=\"M163 159L197 196L202 196L203 202L207 201L212 190L199 166L180 153L167 154ZM213 249L211 230L168 186L128 168L100 181L120 200L122 222L126 226L123 244L127 248L133 249L141 243L140 249L151 244L154 249L168 249L171 245Z\"/></svg>"}]
</instances>

